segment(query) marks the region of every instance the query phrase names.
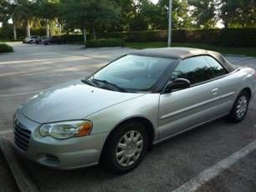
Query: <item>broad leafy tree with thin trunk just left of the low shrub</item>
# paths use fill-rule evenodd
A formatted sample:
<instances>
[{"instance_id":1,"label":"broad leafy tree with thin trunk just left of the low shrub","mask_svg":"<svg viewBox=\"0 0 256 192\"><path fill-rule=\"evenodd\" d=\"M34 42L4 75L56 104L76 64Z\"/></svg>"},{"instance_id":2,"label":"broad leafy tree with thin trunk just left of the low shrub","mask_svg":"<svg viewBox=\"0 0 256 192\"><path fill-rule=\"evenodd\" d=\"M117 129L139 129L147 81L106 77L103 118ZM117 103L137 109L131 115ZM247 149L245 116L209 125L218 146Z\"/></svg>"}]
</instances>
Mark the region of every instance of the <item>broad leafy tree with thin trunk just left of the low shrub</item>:
<instances>
[{"instance_id":1,"label":"broad leafy tree with thin trunk just left of the low shrub","mask_svg":"<svg viewBox=\"0 0 256 192\"><path fill-rule=\"evenodd\" d=\"M106 26L118 21L120 9L109 0L73 0L60 1L61 18L69 28L80 28L84 32L86 46L86 29ZM94 36L96 36L94 34Z\"/></svg>"}]
</instances>

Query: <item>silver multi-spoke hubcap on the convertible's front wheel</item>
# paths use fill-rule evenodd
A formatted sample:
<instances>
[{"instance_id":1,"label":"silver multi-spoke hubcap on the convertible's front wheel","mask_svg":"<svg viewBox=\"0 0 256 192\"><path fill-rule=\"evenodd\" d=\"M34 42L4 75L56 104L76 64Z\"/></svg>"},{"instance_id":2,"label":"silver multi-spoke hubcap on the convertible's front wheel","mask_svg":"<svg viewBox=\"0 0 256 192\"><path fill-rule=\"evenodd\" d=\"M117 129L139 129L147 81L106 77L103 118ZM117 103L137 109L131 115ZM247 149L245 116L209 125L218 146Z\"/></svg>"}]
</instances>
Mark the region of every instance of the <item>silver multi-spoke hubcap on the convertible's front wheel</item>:
<instances>
[{"instance_id":1,"label":"silver multi-spoke hubcap on the convertible's front wheel","mask_svg":"<svg viewBox=\"0 0 256 192\"><path fill-rule=\"evenodd\" d=\"M118 164L127 167L134 164L141 156L143 138L140 132L132 130L127 132L119 141L115 151Z\"/></svg>"}]
</instances>

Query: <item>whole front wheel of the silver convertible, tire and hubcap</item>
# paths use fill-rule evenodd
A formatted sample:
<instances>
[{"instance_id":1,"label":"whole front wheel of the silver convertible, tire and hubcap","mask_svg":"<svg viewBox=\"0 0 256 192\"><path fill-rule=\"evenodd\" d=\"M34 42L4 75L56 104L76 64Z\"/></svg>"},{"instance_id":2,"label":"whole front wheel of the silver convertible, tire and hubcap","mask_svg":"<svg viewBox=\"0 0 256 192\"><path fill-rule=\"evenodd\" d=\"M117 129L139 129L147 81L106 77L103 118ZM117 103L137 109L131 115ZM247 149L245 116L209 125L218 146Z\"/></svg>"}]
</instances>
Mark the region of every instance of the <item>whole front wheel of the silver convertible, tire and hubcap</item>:
<instances>
[{"instance_id":1,"label":"whole front wheel of the silver convertible, tire and hubcap","mask_svg":"<svg viewBox=\"0 0 256 192\"><path fill-rule=\"evenodd\" d=\"M148 136L140 122L120 124L107 140L101 163L117 174L135 169L146 154Z\"/></svg>"}]
</instances>

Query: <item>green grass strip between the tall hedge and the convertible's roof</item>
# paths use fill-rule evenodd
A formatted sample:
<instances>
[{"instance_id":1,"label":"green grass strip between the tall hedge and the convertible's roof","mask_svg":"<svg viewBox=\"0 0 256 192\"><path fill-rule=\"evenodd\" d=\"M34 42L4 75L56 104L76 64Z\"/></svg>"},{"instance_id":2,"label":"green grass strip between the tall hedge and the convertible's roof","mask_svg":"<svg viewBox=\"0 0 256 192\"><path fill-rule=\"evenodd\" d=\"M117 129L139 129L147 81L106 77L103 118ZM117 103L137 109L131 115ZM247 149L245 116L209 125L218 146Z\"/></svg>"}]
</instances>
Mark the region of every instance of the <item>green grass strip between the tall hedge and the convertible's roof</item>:
<instances>
[{"instance_id":1,"label":"green grass strip between the tall hedge and the convertible's roof","mask_svg":"<svg viewBox=\"0 0 256 192\"><path fill-rule=\"evenodd\" d=\"M167 43L164 42L146 42L146 43L125 43L125 47L128 48L165 48ZM239 54L246 56L256 57L256 47L254 48L231 48L231 47L220 47L210 44L200 43L172 43L172 47L188 47L188 48L203 48L207 50L217 51L223 54Z\"/></svg>"}]
</instances>

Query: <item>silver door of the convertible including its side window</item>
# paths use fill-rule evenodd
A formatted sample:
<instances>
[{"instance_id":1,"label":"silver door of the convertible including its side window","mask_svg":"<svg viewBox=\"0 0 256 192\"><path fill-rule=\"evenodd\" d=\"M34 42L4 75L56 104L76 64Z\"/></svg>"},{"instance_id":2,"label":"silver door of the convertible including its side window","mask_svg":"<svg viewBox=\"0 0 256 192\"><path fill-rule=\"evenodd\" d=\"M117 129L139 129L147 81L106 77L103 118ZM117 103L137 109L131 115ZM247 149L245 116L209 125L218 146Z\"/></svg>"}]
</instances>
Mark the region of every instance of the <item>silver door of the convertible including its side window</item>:
<instances>
[{"instance_id":1,"label":"silver door of the convertible including its side window","mask_svg":"<svg viewBox=\"0 0 256 192\"><path fill-rule=\"evenodd\" d=\"M187 58L177 65L171 80L187 78L192 86L162 93L158 127L161 139L218 117L218 81L204 56Z\"/></svg>"}]
</instances>

